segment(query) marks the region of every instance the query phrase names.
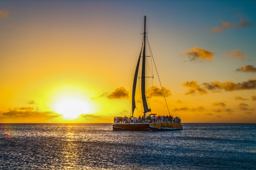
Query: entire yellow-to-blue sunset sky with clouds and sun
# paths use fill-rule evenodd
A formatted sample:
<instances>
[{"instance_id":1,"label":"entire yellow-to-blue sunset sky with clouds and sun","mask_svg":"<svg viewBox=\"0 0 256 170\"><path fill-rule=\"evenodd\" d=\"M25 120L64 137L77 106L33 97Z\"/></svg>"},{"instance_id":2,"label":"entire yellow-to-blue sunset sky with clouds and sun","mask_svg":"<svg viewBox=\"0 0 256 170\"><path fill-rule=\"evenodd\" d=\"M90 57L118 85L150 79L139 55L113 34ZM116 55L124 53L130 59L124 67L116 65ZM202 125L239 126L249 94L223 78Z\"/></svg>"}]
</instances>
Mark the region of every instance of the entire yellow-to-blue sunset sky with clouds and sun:
<instances>
[{"instance_id":1,"label":"entire yellow-to-blue sunset sky with clouds and sun","mask_svg":"<svg viewBox=\"0 0 256 170\"><path fill-rule=\"evenodd\" d=\"M255 6L0 1L0 123L112 123L130 116L144 16L171 115L183 123L256 123ZM169 115L151 71L152 113ZM143 109L139 90L135 117Z\"/></svg>"}]
</instances>

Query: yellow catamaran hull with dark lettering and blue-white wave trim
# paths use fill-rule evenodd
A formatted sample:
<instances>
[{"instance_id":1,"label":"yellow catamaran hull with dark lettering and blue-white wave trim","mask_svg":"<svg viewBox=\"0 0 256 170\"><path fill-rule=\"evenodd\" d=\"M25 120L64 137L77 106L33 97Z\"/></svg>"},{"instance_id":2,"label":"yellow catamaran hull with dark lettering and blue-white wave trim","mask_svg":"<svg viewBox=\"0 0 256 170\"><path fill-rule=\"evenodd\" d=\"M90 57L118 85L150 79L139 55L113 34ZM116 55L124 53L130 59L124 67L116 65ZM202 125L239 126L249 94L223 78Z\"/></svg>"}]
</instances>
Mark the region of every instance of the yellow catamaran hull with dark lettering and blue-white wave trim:
<instances>
[{"instance_id":1,"label":"yellow catamaran hull with dark lettering and blue-white wave trim","mask_svg":"<svg viewBox=\"0 0 256 170\"><path fill-rule=\"evenodd\" d=\"M151 131L181 130L182 125L179 123L151 123L149 125Z\"/></svg>"}]
</instances>

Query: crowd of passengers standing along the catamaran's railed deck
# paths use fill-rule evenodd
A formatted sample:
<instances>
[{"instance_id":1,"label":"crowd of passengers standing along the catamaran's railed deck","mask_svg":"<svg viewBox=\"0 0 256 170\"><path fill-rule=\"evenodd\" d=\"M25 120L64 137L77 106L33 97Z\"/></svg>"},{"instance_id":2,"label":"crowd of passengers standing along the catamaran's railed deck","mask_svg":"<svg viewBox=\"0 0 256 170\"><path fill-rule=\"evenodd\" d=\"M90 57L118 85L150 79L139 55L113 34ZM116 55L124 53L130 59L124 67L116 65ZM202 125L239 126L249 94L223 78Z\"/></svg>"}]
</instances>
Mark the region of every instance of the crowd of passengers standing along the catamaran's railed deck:
<instances>
[{"instance_id":1,"label":"crowd of passengers standing along the catamaran's railed deck","mask_svg":"<svg viewBox=\"0 0 256 170\"><path fill-rule=\"evenodd\" d=\"M139 116L139 118L135 118L135 117L114 117L114 123L181 123L181 119L178 117L172 117L170 116L160 116L160 115L153 115L151 117L151 115L148 115L146 117L144 117L144 115L142 117Z\"/></svg>"}]
</instances>

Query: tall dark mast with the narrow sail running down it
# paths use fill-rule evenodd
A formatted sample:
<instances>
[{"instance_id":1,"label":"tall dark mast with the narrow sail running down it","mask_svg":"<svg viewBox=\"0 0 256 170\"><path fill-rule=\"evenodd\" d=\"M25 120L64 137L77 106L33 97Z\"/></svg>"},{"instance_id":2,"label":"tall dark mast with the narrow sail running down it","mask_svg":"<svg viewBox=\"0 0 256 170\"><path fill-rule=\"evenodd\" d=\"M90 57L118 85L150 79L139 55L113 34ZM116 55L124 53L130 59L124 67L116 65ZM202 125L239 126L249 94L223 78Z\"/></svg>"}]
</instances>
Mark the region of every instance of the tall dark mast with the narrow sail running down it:
<instances>
[{"instance_id":1,"label":"tall dark mast with the narrow sail running down it","mask_svg":"<svg viewBox=\"0 0 256 170\"><path fill-rule=\"evenodd\" d=\"M146 60L146 16L144 19L144 48L143 48L143 57L142 57L142 102L144 108L144 118L147 112L150 112L151 109L148 109L148 104L146 102L146 95L145 95L145 60Z\"/></svg>"}]
</instances>

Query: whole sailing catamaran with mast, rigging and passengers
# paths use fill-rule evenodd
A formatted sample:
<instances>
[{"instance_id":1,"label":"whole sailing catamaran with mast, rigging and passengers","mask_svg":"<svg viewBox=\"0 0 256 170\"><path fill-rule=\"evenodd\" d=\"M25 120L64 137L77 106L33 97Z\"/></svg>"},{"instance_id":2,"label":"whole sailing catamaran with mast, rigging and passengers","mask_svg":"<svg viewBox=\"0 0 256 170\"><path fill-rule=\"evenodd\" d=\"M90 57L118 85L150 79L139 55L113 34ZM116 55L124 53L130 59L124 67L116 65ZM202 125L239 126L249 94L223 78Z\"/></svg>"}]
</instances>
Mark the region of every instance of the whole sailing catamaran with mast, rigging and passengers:
<instances>
[{"instance_id":1,"label":"whole sailing catamaran with mast, rigging and passengers","mask_svg":"<svg viewBox=\"0 0 256 170\"><path fill-rule=\"evenodd\" d=\"M151 130L151 131L162 131L162 130L177 130L177 129L182 129L182 125L181 125L181 122L177 119L177 121L174 121L174 119L170 118L165 118L163 120L160 120L160 119L152 119L145 121L146 119L146 114L147 113L150 113L151 112L151 108L149 108L148 106L148 103L147 103L147 96L146 96L146 92L145 92L145 78L148 78L145 76L145 65L146 65L146 57L151 57L151 56L146 56L146 45L149 46L149 44L146 44L146 42L148 42L148 38L146 36L146 16L144 16L144 33L143 33L143 41L142 41L142 48L140 50L140 55L139 55L139 59L138 59L138 62L137 62L137 66L136 66L136 69L135 69L135 74L134 74L134 79L133 79L133 90L132 90L132 116L130 116L130 121L117 121L115 120L116 118L114 118L114 124L113 124L113 130L116 131L116 130L137 130L137 131L148 131L148 130ZM151 49L150 49L150 46L149 46L149 50L150 50L150 53L151 53ZM152 54L152 53L151 53ZM144 118L144 121L138 121L137 118L134 118L133 117L133 113L134 113L134 110L136 108L136 104L135 104L135 91L136 91L136 85L137 85L137 80L138 80L138 75L139 75L139 68L140 68L140 60L142 58L142 69L140 70L141 71L141 101L142 101L142 106L143 106L143 118ZM152 55L152 58L153 58L153 55ZM154 58L153 58L153 61L154 61ZM153 66L153 65L152 65ZM156 66L155 66L156 68ZM153 69L153 67L152 67ZM152 70L153 72L153 70ZM157 72L157 70L156 70ZM150 77L150 78L154 78L153 76ZM159 77L158 77L159 78ZM159 79L159 82L160 82L160 79ZM160 83L161 85L161 83ZM153 86L153 83L152 83L152 86ZM161 89L162 89L162 86L161 86ZM163 95L164 95L164 91L162 90L163 92ZM165 97L165 96L164 96ZM166 100L165 100L166 102ZM167 106L167 103L166 103L166 106ZM167 106L168 108L168 106ZM142 112L142 111L140 111ZM168 112L169 112L169 109L168 109ZM151 117L151 115L156 115L156 114L147 114L148 116ZM169 113L170 115L170 113ZM148 118L148 117L147 117ZM127 118L126 118L127 119Z\"/></svg>"}]
</instances>

